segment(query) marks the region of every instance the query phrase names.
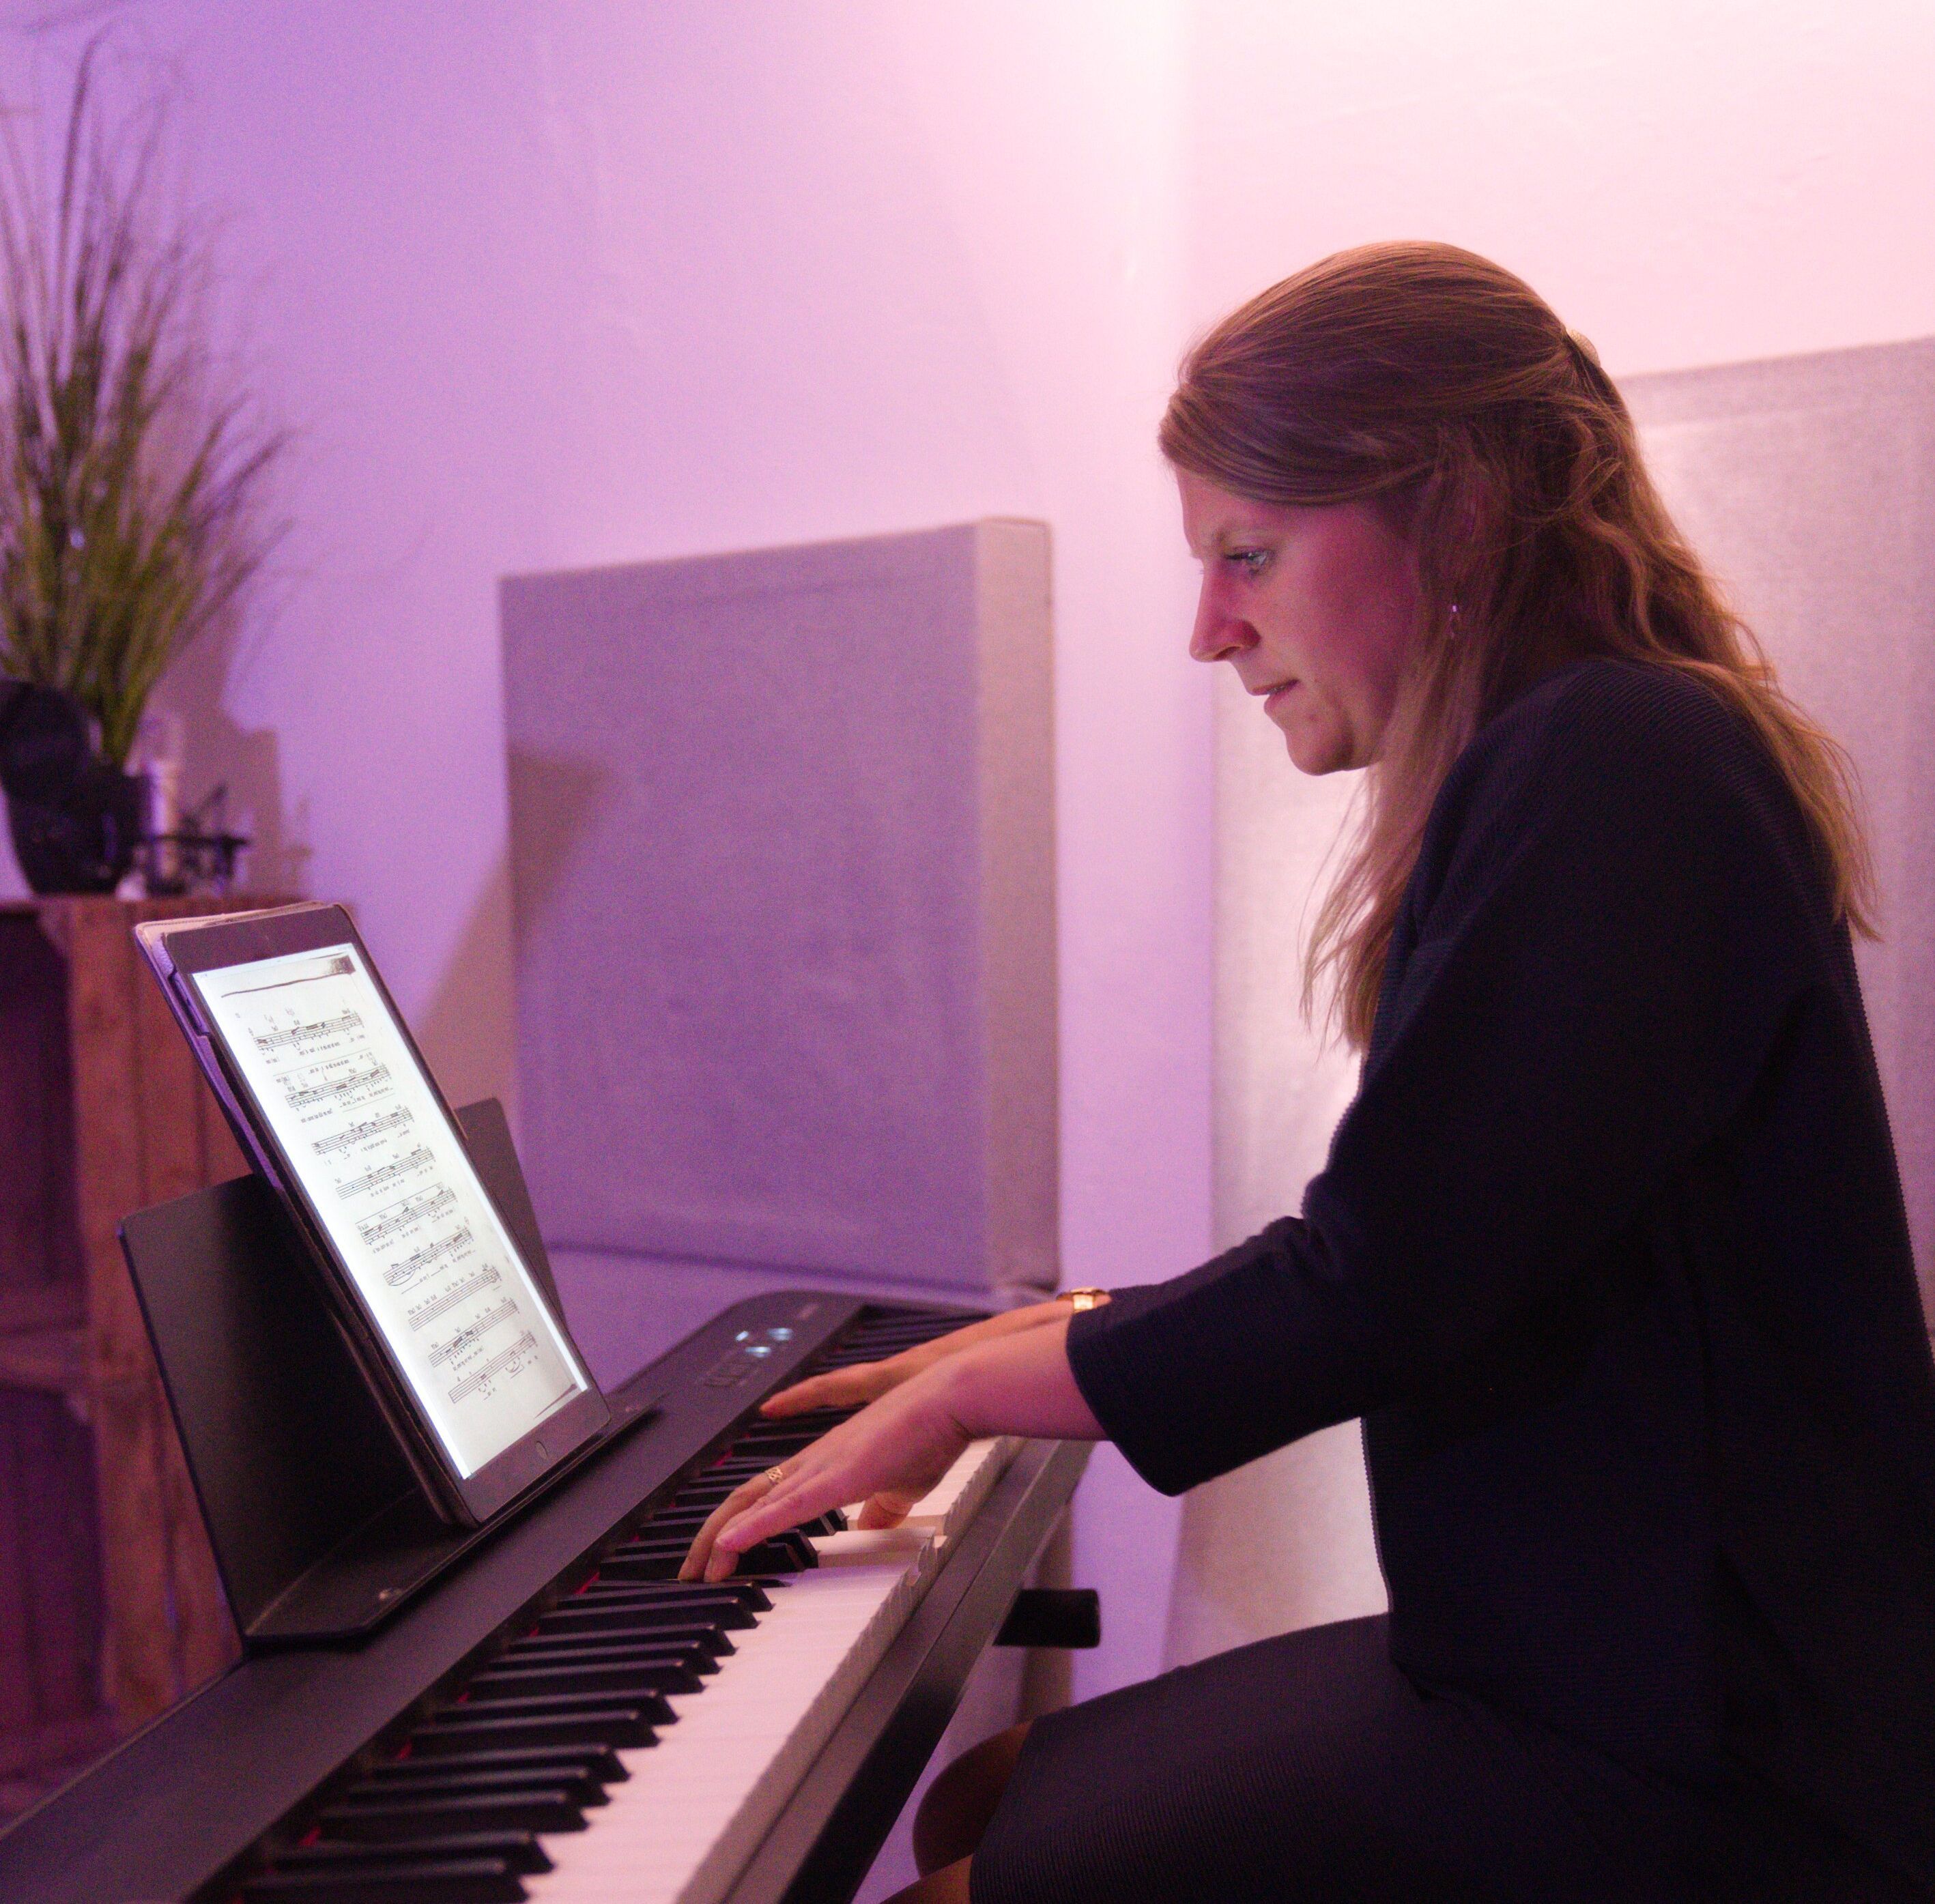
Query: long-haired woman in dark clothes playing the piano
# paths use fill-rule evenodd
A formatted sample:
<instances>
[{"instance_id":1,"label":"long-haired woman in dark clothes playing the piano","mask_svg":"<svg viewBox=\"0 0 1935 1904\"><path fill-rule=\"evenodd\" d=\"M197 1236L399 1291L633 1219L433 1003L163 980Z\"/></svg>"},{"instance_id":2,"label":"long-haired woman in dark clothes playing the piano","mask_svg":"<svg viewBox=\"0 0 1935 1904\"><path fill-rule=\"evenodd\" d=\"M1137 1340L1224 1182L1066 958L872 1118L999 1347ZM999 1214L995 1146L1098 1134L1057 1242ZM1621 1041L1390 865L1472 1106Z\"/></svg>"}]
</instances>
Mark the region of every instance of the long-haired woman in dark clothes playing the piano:
<instances>
[{"instance_id":1,"label":"long-haired woman in dark clothes playing the piano","mask_svg":"<svg viewBox=\"0 0 1935 1904\"><path fill-rule=\"evenodd\" d=\"M1389 1616L991 1741L909 1896L1931 1896L1935 1372L1842 757L1480 257L1265 292L1161 443L1192 652L1372 770L1306 973L1358 1095L1302 1215L1190 1275L778 1399L877 1395L691 1569L888 1523L981 1434L1175 1492L1360 1414Z\"/></svg>"}]
</instances>

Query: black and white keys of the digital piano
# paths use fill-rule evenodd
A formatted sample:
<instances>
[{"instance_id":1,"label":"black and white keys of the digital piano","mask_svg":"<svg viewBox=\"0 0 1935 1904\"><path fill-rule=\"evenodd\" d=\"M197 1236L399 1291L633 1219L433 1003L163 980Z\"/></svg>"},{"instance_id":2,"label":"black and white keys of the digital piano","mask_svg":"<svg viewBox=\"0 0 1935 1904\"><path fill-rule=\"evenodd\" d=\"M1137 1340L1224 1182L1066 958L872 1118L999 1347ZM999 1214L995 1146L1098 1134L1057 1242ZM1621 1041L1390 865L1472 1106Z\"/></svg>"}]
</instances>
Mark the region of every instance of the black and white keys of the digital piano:
<instances>
[{"instance_id":1,"label":"black and white keys of the digital piano","mask_svg":"<svg viewBox=\"0 0 1935 1904\"><path fill-rule=\"evenodd\" d=\"M820 1366L933 1333L880 1318ZM737 1480L842 1418L739 1434L399 1751L327 1794L248 1904L718 1904L1018 1445L977 1442L898 1529L834 1517L755 1548L729 1581L673 1579Z\"/></svg>"}]
</instances>

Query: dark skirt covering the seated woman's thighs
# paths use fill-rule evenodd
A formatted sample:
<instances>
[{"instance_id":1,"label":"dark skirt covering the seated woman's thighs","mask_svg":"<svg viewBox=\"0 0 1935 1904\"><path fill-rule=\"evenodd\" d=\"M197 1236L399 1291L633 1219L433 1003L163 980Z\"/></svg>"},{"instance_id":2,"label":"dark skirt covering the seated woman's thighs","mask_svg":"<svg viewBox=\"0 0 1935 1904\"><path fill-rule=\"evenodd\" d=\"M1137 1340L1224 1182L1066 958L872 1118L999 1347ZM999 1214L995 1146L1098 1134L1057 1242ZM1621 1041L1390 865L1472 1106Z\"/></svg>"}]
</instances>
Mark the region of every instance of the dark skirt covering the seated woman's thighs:
<instances>
[{"instance_id":1,"label":"dark skirt covering the seated woman's thighs","mask_svg":"<svg viewBox=\"0 0 1935 1904\"><path fill-rule=\"evenodd\" d=\"M1767 1817L1660 1794L1478 1701L1424 1693L1391 1664L1382 1618L1349 1620L1037 1720L975 1852L973 1900L1912 1894L1852 1848ZM1767 1844L1767 1829L1788 1842Z\"/></svg>"}]
</instances>

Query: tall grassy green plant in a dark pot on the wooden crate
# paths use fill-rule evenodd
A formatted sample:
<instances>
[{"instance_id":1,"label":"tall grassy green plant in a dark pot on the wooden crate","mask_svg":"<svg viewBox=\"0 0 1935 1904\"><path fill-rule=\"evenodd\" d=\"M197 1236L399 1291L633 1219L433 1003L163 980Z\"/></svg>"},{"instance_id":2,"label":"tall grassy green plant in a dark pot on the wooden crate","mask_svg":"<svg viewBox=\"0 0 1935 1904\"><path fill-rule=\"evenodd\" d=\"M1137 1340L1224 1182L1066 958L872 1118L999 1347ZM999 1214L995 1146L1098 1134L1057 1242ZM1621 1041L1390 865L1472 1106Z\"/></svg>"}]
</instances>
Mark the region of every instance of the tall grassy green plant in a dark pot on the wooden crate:
<instances>
[{"instance_id":1,"label":"tall grassy green plant in a dark pot on the wooden crate","mask_svg":"<svg viewBox=\"0 0 1935 1904\"><path fill-rule=\"evenodd\" d=\"M8 776L37 892L128 871L141 710L277 540L263 503L286 445L215 358L207 224L161 213L164 106L110 116L99 52L52 178L35 116L0 114L0 675L43 691L43 731L46 691L68 697L91 741L72 799Z\"/></svg>"}]
</instances>

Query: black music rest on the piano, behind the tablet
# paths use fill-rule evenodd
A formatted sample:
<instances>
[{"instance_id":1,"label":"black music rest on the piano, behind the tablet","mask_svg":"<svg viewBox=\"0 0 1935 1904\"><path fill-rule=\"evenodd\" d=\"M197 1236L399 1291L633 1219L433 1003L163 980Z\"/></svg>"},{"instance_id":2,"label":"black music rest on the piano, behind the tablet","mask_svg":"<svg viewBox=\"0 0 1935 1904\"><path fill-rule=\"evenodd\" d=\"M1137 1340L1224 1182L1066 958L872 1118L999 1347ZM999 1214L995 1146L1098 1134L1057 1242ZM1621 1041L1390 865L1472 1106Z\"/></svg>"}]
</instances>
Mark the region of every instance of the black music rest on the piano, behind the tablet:
<instances>
[{"instance_id":1,"label":"black music rest on the piano, behind the tablet","mask_svg":"<svg viewBox=\"0 0 1935 1904\"><path fill-rule=\"evenodd\" d=\"M503 1109L457 1122L557 1304ZM250 1649L366 1633L495 1531L424 1496L259 1176L137 1211L120 1238Z\"/></svg>"}]
</instances>

